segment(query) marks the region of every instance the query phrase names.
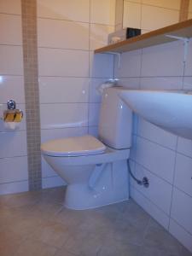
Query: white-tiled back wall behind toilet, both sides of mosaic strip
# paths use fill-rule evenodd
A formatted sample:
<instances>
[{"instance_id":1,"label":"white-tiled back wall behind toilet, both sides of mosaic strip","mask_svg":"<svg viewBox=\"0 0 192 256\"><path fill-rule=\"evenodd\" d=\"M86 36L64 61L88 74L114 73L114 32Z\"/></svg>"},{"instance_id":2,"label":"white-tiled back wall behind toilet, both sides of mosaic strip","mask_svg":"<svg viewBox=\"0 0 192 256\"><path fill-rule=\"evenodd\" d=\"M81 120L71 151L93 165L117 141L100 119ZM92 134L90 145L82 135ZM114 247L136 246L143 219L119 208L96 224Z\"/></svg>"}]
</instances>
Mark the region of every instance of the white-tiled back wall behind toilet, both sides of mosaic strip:
<instances>
[{"instance_id":1,"label":"white-tiled back wall behind toilet, both sides of mosaic strip","mask_svg":"<svg viewBox=\"0 0 192 256\"><path fill-rule=\"evenodd\" d=\"M28 44L36 39L35 20L32 21L34 33L26 35L31 31L29 26L32 22L24 19L24 12L30 15L34 4L30 1L23 3L28 4L26 10L21 10L20 0L0 2L0 103L3 104L0 110L2 114L9 99L14 99L17 108L24 110L24 119L16 131L10 131L0 120L0 194L28 190L28 183L30 189L40 188L41 181L43 188L63 184L44 160L41 173L41 166L37 161L40 151L36 150L34 143L40 145L40 136L38 131L31 129L29 121L34 117L37 121L38 106L34 105L32 111L32 101L38 104L38 89L34 87L36 77L32 77L31 71L36 72L38 68L42 143L59 137L86 133L96 135L101 101L96 89L113 78L113 56L94 56L93 50L107 44L108 33L113 32L115 0L38 0L38 63L34 69L29 70L30 73L25 68L35 61L33 57L37 57L35 50L30 52L32 48ZM23 25L28 28L22 33ZM34 41L30 41L31 38ZM24 64L22 40L27 43ZM25 104L25 96L30 95L32 99L28 98L30 101L27 100ZM28 115L27 125L25 108L27 113L33 112ZM27 146L32 149L28 154L29 170Z\"/></svg>"}]
</instances>

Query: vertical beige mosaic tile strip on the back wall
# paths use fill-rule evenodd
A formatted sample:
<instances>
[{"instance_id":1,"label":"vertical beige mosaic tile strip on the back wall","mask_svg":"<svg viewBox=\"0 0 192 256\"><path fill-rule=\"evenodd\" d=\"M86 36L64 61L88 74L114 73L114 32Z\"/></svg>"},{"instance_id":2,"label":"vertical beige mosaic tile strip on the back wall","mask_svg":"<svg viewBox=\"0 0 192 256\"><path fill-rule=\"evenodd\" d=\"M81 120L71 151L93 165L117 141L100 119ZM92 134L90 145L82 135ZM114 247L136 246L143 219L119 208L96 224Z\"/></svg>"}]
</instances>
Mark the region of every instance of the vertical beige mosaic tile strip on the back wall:
<instances>
[{"instance_id":1,"label":"vertical beige mosaic tile strip on the back wall","mask_svg":"<svg viewBox=\"0 0 192 256\"><path fill-rule=\"evenodd\" d=\"M42 189L37 1L21 0L29 190Z\"/></svg>"}]
</instances>

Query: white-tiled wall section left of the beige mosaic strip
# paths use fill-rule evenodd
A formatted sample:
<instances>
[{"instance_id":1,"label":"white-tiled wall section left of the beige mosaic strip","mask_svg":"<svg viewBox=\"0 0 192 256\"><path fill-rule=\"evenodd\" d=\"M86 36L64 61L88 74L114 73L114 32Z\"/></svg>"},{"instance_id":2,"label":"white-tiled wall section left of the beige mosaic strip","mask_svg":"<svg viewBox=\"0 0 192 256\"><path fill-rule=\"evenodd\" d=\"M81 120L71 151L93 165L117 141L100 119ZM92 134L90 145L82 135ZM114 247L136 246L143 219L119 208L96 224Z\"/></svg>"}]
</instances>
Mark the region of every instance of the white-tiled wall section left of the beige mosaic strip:
<instances>
[{"instance_id":1,"label":"white-tiled wall section left of the beige mosaic strip","mask_svg":"<svg viewBox=\"0 0 192 256\"><path fill-rule=\"evenodd\" d=\"M0 194L28 190L20 0L0 1L0 115L10 99L24 112L16 131L0 120Z\"/></svg>"}]
</instances>

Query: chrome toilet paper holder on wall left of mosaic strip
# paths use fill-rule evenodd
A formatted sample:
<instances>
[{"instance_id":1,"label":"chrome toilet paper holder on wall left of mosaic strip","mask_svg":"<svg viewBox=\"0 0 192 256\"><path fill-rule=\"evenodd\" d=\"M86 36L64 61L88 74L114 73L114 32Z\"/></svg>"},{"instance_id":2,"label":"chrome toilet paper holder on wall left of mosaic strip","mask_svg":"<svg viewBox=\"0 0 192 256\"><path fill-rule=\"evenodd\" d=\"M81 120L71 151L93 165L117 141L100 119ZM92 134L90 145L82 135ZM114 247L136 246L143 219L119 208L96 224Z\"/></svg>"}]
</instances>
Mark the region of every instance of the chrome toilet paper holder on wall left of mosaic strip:
<instances>
[{"instance_id":1,"label":"chrome toilet paper holder on wall left of mosaic strip","mask_svg":"<svg viewBox=\"0 0 192 256\"><path fill-rule=\"evenodd\" d=\"M14 100L9 100L7 103L7 109L3 111L4 122L20 123L23 118L23 112L20 109L16 109L16 103Z\"/></svg>"}]
</instances>

